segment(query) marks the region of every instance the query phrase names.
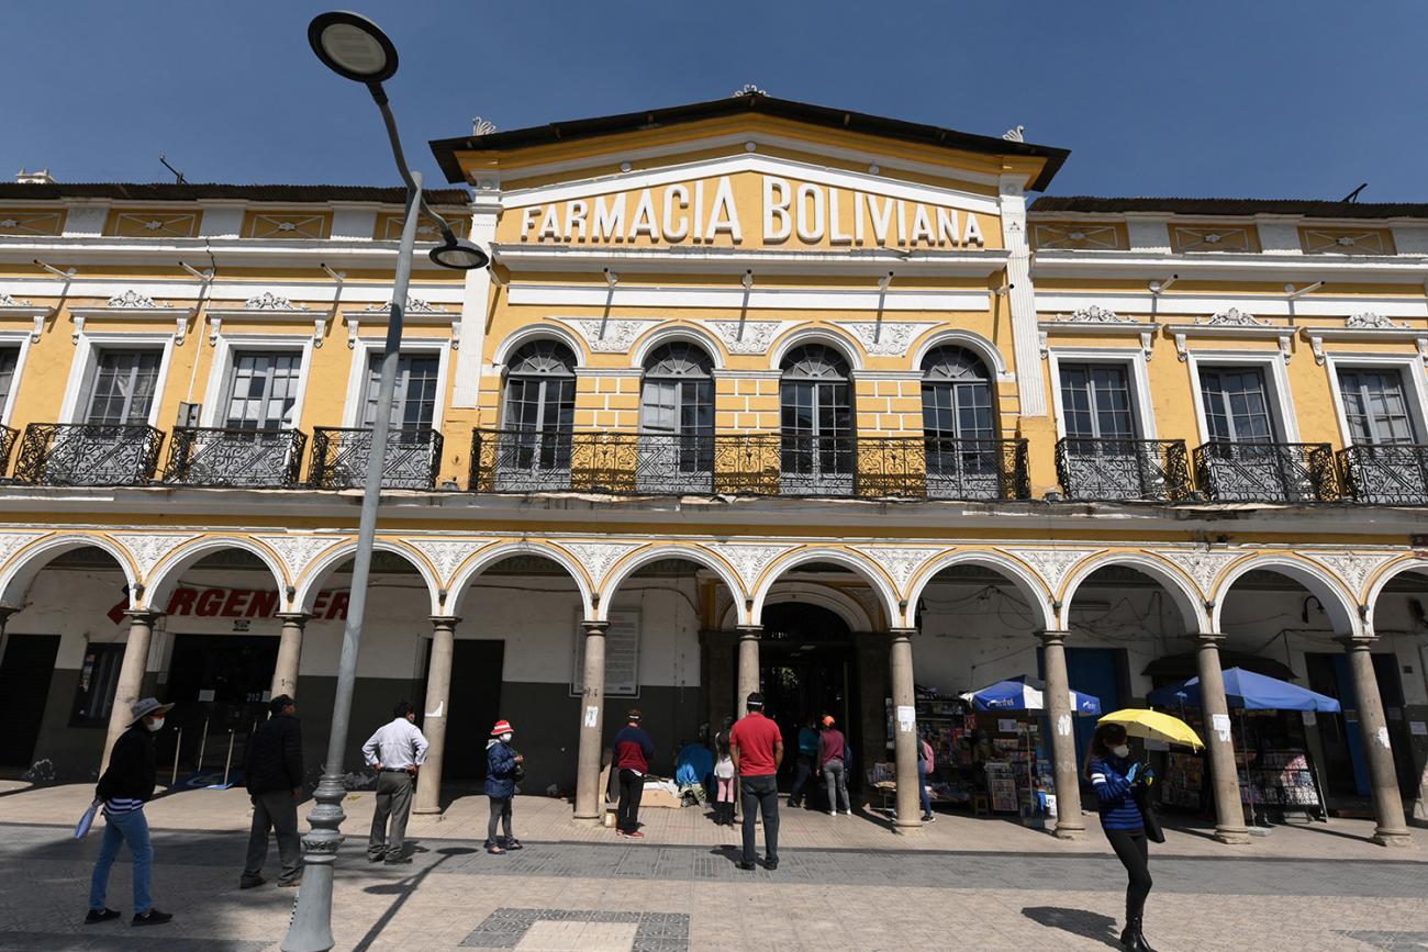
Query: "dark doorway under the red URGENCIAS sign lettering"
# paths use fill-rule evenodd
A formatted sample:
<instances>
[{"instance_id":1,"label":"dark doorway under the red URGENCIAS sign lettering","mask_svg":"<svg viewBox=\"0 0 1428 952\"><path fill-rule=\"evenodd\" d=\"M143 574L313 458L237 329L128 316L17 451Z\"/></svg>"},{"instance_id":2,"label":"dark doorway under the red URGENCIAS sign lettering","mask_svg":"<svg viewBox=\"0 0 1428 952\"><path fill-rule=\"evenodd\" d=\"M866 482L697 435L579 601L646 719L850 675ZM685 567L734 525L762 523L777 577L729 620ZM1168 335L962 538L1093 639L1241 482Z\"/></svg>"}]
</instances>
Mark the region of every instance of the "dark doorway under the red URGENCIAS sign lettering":
<instances>
[{"instance_id":1,"label":"dark doorway under the red URGENCIAS sign lettering","mask_svg":"<svg viewBox=\"0 0 1428 952\"><path fill-rule=\"evenodd\" d=\"M180 771L221 775L227 768L228 782L237 782L248 736L267 719L277 642L271 635L174 635L164 691L174 708L157 741L161 765L171 769L178 744Z\"/></svg>"}]
</instances>

